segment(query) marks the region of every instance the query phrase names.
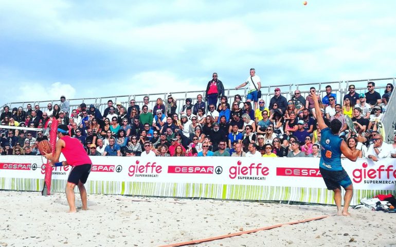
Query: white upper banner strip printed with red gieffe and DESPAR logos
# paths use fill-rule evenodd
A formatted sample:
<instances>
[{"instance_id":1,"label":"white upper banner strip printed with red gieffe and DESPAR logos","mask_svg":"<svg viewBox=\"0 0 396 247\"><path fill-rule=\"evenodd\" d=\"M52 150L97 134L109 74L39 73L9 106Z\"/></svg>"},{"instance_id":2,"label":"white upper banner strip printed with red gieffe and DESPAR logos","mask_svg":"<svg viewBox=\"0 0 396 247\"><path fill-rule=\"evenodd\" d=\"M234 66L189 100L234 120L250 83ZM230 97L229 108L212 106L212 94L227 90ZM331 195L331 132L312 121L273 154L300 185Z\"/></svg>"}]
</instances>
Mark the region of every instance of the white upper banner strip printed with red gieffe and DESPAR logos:
<instances>
[{"instance_id":1,"label":"white upper banner strip printed with red gieffe and DESPAR logos","mask_svg":"<svg viewBox=\"0 0 396 247\"><path fill-rule=\"evenodd\" d=\"M88 181L326 188L319 158L90 157ZM354 189L362 190L395 190L395 162L342 161ZM43 163L42 156L0 156L0 178L43 179ZM67 180L70 168L54 167L52 180Z\"/></svg>"}]
</instances>

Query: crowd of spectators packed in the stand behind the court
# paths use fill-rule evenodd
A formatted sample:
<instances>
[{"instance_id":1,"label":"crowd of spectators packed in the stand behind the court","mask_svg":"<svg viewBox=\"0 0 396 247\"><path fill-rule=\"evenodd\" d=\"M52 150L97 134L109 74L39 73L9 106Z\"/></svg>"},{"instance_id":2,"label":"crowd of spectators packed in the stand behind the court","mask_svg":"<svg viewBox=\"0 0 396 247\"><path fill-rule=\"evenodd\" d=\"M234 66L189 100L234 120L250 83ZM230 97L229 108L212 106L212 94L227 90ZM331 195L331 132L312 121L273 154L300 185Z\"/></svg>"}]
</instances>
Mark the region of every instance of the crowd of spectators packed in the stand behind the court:
<instances>
[{"instance_id":1,"label":"crowd of spectators packed in the stand behind the court","mask_svg":"<svg viewBox=\"0 0 396 247\"><path fill-rule=\"evenodd\" d=\"M349 93L342 100L328 85L326 95L319 97L320 112L315 112L310 95L304 98L296 90L291 99L286 99L278 87L266 107L259 97L261 82L253 68L237 89L245 85L249 88L246 102L235 95L229 104L223 83L213 73L206 96L197 95L194 104L187 98L181 109L177 109L172 95L166 100L157 98L154 105L149 104L149 96L140 105L132 99L128 109L109 100L103 113L94 104L85 103L70 111L65 96L59 104L48 103L44 111L39 105L33 109L28 104L27 109L12 111L6 106L0 116L3 126L43 131L0 128L0 154L40 155L38 143L49 138L53 116L69 127L70 136L78 138L89 155L95 156L320 157L316 116L321 114L327 125L335 118L343 123L339 136L351 149L361 150L360 157L376 161L396 155L396 135L393 144L387 144L382 126L392 84L386 86L382 96L375 91L374 82L368 83L365 94L355 93L355 86L349 85ZM310 92L316 93L315 87ZM352 118L355 131L366 136L366 143L357 143L346 124L346 115Z\"/></svg>"}]
</instances>

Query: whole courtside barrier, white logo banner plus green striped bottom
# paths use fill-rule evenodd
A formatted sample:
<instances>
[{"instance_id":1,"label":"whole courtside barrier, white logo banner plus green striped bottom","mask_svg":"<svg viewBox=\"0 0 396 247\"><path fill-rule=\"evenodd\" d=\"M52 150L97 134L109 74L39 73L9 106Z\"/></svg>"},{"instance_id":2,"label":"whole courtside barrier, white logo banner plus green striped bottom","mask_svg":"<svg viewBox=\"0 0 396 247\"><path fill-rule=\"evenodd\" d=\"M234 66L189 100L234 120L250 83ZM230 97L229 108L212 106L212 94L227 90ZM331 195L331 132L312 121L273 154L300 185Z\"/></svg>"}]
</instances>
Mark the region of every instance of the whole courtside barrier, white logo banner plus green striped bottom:
<instances>
[{"instance_id":1,"label":"whole courtside barrier, white logo banner plus green striped bottom","mask_svg":"<svg viewBox=\"0 0 396 247\"><path fill-rule=\"evenodd\" d=\"M334 204L319 158L90 157L88 193ZM0 189L41 191L45 162L42 156L0 156ZM343 160L354 186L351 205L363 197L394 195L395 162ZM64 191L70 168L53 168L51 191Z\"/></svg>"}]
</instances>

